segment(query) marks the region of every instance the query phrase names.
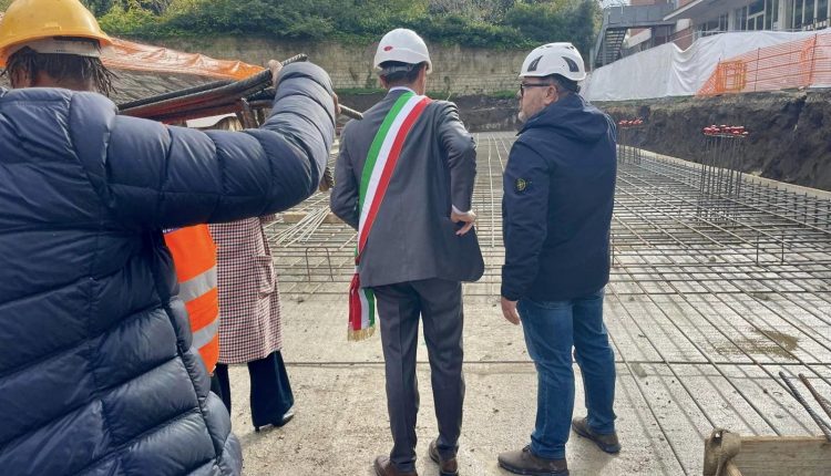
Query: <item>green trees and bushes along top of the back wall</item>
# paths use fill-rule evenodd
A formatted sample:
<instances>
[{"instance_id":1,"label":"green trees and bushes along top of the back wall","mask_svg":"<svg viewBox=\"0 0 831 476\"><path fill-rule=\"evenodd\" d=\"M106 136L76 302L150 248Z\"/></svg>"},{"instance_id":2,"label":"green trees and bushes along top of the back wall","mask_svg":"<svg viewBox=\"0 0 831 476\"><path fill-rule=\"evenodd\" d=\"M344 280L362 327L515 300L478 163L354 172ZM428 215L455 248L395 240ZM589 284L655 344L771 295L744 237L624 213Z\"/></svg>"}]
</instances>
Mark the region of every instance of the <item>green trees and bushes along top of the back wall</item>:
<instances>
[{"instance_id":1,"label":"green trees and bushes along top of the back wall","mask_svg":"<svg viewBox=\"0 0 831 476\"><path fill-rule=\"evenodd\" d=\"M4 1L4 0L0 0ZM84 0L105 31L132 37L234 34L371 42L393 28L429 41L496 49L572 41L587 54L592 0Z\"/></svg>"}]
</instances>

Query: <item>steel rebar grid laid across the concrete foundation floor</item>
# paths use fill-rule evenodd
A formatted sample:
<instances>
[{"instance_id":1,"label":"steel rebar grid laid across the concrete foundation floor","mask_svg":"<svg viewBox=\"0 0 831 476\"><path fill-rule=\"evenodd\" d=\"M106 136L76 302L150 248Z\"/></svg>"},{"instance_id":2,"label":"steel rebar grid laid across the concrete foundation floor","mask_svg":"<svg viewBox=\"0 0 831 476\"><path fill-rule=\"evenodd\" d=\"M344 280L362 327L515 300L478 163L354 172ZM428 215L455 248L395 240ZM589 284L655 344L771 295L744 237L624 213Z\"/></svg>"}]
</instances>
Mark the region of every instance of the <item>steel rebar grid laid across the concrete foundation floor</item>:
<instances>
[{"instance_id":1,"label":"steel rebar grid laid across the concrete foundation floor","mask_svg":"<svg viewBox=\"0 0 831 476\"><path fill-rule=\"evenodd\" d=\"M464 292L491 302L500 294L502 172L514 134L476 139L473 203L486 271ZM780 370L804 373L831 399L829 194L729 174L740 186L719 193L702 188L711 170L701 167L619 151L606 288L609 335L630 376L620 391L643 403L685 474L701 465L700 447L687 442L714 426L819 433L776 379ZM267 230L284 296L346 302L355 231L327 210L328 195L317 195L291 210L298 223Z\"/></svg>"}]
</instances>

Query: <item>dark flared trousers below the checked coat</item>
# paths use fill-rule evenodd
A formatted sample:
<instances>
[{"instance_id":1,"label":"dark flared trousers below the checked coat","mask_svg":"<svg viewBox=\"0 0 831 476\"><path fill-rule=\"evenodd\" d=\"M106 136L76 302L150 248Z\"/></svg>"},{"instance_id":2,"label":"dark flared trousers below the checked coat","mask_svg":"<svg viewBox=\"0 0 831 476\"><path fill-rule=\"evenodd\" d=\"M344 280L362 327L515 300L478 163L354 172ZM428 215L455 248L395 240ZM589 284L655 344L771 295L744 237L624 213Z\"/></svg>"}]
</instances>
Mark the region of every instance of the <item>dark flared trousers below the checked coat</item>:
<instances>
[{"instance_id":1,"label":"dark flared trousers below the checked coat","mask_svg":"<svg viewBox=\"0 0 831 476\"><path fill-rule=\"evenodd\" d=\"M275 351L265 359L248 362L248 375L252 379L250 405L254 426L279 423L283 415L295 404L295 395L291 393L280 352ZM211 390L222 397L230 413L228 365L216 364Z\"/></svg>"}]
</instances>

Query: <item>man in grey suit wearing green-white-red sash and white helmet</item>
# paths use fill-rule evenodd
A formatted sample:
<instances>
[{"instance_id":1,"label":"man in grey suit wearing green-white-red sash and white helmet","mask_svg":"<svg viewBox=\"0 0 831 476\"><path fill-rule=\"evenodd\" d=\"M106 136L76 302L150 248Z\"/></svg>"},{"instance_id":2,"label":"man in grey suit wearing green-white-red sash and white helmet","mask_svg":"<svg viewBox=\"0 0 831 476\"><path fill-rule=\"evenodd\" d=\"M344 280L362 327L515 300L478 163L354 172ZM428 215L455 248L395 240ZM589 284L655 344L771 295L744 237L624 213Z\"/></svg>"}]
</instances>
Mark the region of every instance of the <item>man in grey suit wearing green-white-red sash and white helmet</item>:
<instances>
[{"instance_id":1,"label":"man in grey suit wearing green-white-red sash and white helmet","mask_svg":"<svg viewBox=\"0 0 831 476\"><path fill-rule=\"evenodd\" d=\"M379 476L416 475L419 315L430 356L439 437L430 457L458 474L462 424L462 286L484 270L471 210L473 137L454 104L424 96L432 70L411 30L387 33L375 66L387 96L343 130L331 209L358 229L350 338L373 329L377 301L393 447Z\"/></svg>"}]
</instances>

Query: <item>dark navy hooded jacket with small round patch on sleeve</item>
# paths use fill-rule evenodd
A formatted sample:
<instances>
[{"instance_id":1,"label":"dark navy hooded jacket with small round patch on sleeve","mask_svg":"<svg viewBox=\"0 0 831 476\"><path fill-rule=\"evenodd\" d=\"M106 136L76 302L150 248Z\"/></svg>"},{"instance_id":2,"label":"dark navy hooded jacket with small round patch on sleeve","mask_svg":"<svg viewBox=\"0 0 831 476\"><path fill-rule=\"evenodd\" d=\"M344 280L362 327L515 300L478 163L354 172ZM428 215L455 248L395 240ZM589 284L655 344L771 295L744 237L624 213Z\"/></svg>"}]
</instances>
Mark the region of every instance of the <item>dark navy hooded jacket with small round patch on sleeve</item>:
<instances>
[{"instance_id":1,"label":"dark navy hooded jacket with small round patch on sleeve","mask_svg":"<svg viewBox=\"0 0 831 476\"><path fill-rule=\"evenodd\" d=\"M503 183L503 297L561 301L608 282L615 141L612 120L577 94L520 131Z\"/></svg>"}]
</instances>

